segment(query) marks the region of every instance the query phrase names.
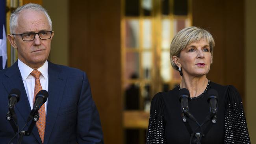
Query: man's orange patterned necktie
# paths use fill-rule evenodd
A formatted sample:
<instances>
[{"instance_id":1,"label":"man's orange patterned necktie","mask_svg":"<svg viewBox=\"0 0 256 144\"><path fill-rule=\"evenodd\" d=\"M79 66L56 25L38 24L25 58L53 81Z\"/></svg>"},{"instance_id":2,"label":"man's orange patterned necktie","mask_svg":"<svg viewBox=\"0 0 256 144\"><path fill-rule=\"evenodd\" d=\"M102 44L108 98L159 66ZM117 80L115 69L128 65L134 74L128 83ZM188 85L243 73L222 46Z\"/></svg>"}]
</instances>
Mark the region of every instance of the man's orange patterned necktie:
<instances>
[{"instance_id":1,"label":"man's orange patterned necktie","mask_svg":"<svg viewBox=\"0 0 256 144\"><path fill-rule=\"evenodd\" d=\"M40 83L40 74L38 70L33 70L30 73L32 76L35 77L35 90L34 90L34 101L35 102L35 96L36 94L42 90L42 86ZM39 120L36 122L36 126L38 129L38 133L41 137L42 142L44 143L44 137L45 137L45 121L46 121L46 114L45 114L45 104L42 105L42 107L39 109Z\"/></svg>"}]
</instances>

